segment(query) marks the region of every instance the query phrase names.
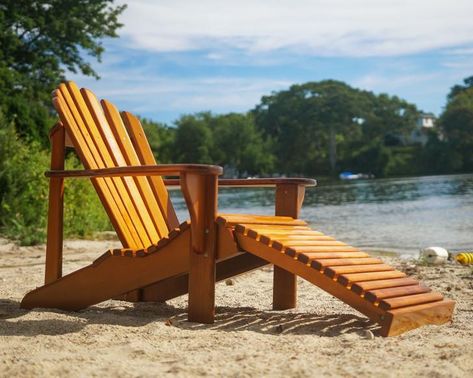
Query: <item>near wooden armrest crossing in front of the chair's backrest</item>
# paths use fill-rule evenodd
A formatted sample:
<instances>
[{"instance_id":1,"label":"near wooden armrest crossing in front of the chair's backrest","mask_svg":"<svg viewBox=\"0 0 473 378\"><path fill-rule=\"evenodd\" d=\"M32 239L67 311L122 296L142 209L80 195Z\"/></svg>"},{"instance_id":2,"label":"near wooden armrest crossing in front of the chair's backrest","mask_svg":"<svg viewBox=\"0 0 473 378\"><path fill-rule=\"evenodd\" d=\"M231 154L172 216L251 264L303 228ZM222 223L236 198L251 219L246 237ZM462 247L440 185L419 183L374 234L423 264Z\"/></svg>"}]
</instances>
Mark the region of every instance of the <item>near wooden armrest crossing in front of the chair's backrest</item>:
<instances>
[{"instance_id":1,"label":"near wooden armrest crossing in front of the chair's backrest","mask_svg":"<svg viewBox=\"0 0 473 378\"><path fill-rule=\"evenodd\" d=\"M46 177L120 177L120 176L180 176L186 173L198 175L221 175L222 167L218 165L205 164L160 164L160 165L140 165L129 167L114 167L101 169L84 169L84 170L54 170L47 171Z\"/></svg>"}]
</instances>

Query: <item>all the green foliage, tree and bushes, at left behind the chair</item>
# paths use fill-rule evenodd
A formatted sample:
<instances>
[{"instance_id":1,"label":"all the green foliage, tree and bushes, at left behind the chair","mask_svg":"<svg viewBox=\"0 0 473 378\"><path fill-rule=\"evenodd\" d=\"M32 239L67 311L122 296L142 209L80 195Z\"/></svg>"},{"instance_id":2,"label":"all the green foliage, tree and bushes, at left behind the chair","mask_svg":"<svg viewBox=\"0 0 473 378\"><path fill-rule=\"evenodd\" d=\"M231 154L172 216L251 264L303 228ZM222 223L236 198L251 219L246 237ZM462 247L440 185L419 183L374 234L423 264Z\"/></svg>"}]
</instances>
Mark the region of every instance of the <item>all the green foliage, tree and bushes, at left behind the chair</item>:
<instances>
[{"instance_id":1,"label":"all the green foliage, tree and bushes, at left behind the chair","mask_svg":"<svg viewBox=\"0 0 473 378\"><path fill-rule=\"evenodd\" d=\"M2 234L44 240L51 91L66 72L98 77L102 38L115 37L124 6L113 0L3 0L0 3L0 227ZM78 161L68 157L67 165ZM90 206L84 206L89 204ZM66 185L65 235L109 228L88 181Z\"/></svg>"}]
</instances>

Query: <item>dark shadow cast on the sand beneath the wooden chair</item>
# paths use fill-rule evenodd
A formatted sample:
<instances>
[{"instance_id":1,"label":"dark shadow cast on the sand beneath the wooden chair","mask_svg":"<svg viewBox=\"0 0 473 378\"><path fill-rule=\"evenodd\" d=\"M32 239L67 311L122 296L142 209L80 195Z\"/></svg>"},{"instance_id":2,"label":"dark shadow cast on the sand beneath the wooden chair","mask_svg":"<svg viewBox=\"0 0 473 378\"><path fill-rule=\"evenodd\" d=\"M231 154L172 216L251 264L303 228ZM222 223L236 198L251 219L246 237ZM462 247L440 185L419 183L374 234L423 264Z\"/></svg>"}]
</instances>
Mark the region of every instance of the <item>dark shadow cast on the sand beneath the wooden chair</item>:
<instances>
[{"instance_id":1,"label":"dark shadow cast on the sand beneath the wooden chair","mask_svg":"<svg viewBox=\"0 0 473 378\"><path fill-rule=\"evenodd\" d=\"M0 336L63 335L76 333L91 324L141 327L153 322L186 330L223 332L252 331L270 335L314 335L335 337L342 334L376 331L377 325L354 314L314 314L291 311L264 311L253 307L217 307L215 323L198 324L187 321L185 308L166 303L135 303L123 306L92 306L78 312L35 309L38 313L55 313L66 319L21 319L30 313L19 302L0 300ZM73 317L69 320L67 317ZM79 318L79 321L77 320ZM13 321L12 319L16 319Z\"/></svg>"}]
</instances>

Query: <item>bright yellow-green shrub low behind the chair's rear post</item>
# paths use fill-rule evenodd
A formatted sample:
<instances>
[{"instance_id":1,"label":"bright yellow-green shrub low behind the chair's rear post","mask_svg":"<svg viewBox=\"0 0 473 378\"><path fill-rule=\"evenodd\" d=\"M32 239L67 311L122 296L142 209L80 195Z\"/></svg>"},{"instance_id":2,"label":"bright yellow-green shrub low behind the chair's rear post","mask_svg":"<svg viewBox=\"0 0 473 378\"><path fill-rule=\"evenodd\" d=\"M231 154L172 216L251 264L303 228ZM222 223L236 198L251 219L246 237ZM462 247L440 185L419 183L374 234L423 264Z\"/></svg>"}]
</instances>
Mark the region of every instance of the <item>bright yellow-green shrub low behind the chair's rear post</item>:
<instances>
[{"instance_id":1,"label":"bright yellow-green shrub low behind the chair's rear post","mask_svg":"<svg viewBox=\"0 0 473 378\"><path fill-rule=\"evenodd\" d=\"M39 142L19 138L0 115L0 230L21 244L45 240L50 153ZM81 168L70 155L66 168ZM111 229L108 217L89 180L66 180L64 236L90 237Z\"/></svg>"}]
</instances>

